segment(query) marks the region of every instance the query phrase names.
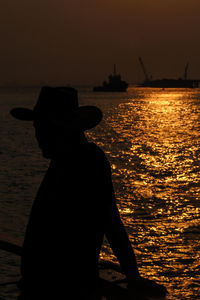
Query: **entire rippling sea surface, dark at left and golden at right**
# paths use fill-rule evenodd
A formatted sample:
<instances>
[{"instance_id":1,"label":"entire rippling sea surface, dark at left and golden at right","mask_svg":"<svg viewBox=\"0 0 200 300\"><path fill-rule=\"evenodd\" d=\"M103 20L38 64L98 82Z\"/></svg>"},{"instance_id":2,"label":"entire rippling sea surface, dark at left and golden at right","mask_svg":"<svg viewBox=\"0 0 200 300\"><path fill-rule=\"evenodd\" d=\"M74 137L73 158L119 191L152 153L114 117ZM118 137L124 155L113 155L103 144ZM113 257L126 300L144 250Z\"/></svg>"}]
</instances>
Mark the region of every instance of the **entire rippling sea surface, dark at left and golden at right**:
<instances>
[{"instance_id":1,"label":"entire rippling sea surface, dark at left and golden at right","mask_svg":"<svg viewBox=\"0 0 200 300\"><path fill-rule=\"evenodd\" d=\"M0 237L22 242L48 161L30 123L9 116L32 107L38 90L1 90ZM200 90L130 88L124 94L79 92L102 123L88 132L106 152L118 207L142 275L162 282L167 299L200 298ZM115 261L105 243L102 257ZM19 278L19 259L0 251L0 282ZM16 299L15 286L0 298Z\"/></svg>"}]
</instances>

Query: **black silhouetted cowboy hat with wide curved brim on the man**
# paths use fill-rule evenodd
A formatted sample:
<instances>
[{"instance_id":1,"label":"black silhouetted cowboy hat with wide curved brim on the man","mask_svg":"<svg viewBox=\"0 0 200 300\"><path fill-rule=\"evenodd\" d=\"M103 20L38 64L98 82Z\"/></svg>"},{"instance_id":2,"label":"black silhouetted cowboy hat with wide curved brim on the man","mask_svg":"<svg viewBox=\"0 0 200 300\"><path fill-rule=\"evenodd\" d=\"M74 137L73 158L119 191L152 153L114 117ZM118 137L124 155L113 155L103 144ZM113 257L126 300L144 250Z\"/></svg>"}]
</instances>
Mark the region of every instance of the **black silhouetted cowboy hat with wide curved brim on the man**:
<instances>
[{"instance_id":1,"label":"black silhouetted cowboy hat with wide curved brim on the man","mask_svg":"<svg viewBox=\"0 0 200 300\"><path fill-rule=\"evenodd\" d=\"M102 119L102 112L96 106L78 106L77 90L71 87L42 87L33 109L17 107L10 113L18 120L51 121L71 130L91 129Z\"/></svg>"}]
</instances>

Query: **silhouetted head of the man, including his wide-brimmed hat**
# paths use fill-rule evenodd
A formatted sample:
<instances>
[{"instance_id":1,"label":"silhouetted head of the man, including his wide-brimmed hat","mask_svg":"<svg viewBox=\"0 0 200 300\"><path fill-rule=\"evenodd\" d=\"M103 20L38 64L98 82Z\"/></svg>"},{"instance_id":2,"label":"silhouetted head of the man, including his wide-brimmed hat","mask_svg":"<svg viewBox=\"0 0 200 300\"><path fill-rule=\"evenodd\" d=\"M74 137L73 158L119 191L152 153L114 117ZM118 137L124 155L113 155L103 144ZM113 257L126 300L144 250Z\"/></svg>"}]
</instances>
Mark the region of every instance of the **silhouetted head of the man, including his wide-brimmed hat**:
<instances>
[{"instance_id":1,"label":"silhouetted head of the man, including his wide-brimmed hat","mask_svg":"<svg viewBox=\"0 0 200 300\"><path fill-rule=\"evenodd\" d=\"M95 127L102 112L95 106L78 106L77 91L70 87L43 87L33 110L14 108L12 116L33 121L36 138L46 158L79 147L84 131Z\"/></svg>"}]
</instances>

